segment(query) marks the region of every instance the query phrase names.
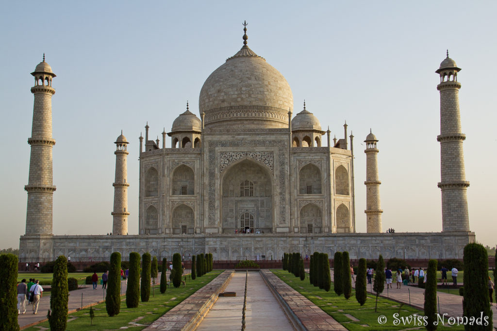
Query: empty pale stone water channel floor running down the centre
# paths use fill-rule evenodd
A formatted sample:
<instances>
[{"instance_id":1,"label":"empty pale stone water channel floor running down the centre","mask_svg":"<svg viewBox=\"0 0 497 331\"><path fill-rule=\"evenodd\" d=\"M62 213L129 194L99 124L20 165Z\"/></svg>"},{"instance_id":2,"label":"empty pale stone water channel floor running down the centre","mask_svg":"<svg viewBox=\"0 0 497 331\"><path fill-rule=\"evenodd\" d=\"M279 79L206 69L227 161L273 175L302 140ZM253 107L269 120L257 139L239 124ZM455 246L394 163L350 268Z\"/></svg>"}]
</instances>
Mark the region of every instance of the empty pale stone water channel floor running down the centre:
<instances>
[{"instance_id":1,"label":"empty pale stone water channel floor running down the centre","mask_svg":"<svg viewBox=\"0 0 497 331\"><path fill-rule=\"evenodd\" d=\"M245 272L237 272L226 287L236 297L220 297L202 320L198 331L240 330L244 306ZM259 272L248 272L246 330L294 330Z\"/></svg>"}]
</instances>

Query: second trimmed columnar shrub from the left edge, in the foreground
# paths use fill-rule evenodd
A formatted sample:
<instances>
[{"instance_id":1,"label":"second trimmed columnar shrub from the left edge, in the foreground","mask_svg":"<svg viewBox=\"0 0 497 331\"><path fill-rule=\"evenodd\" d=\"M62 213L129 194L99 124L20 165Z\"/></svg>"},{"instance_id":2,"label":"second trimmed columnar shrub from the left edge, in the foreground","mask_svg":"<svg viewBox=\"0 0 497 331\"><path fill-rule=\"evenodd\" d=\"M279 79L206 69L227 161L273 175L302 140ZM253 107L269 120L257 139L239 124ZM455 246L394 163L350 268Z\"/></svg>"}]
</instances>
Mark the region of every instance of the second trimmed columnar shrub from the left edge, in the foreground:
<instances>
[{"instance_id":1,"label":"second trimmed columnar shrub from the left edge, in the foreground","mask_svg":"<svg viewBox=\"0 0 497 331\"><path fill-rule=\"evenodd\" d=\"M67 259L61 255L54 265L54 278L50 290L48 322L50 330L65 331L67 327L69 289L67 283Z\"/></svg>"}]
</instances>

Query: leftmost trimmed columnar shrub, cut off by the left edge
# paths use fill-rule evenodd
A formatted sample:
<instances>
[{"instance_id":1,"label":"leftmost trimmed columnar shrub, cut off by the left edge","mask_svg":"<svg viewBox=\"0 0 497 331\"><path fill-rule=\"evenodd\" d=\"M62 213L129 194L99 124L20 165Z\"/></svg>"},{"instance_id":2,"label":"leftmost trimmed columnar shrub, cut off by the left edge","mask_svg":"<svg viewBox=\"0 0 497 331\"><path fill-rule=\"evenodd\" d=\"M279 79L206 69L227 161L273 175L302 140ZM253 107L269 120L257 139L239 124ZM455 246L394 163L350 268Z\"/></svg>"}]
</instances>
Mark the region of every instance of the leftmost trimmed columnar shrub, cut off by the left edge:
<instances>
[{"instance_id":1,"label":"leftmost trimmed columnar shrub, cut off by the left edge","mask_svg":"<svg viewBox=\"0 0 497 331\"><path fill-rule=\"evenodd\" d=\"M17 323L17 264L17 256L13 254L0 255L0 330L19 330Z\"/></svg>"}]
</instances>

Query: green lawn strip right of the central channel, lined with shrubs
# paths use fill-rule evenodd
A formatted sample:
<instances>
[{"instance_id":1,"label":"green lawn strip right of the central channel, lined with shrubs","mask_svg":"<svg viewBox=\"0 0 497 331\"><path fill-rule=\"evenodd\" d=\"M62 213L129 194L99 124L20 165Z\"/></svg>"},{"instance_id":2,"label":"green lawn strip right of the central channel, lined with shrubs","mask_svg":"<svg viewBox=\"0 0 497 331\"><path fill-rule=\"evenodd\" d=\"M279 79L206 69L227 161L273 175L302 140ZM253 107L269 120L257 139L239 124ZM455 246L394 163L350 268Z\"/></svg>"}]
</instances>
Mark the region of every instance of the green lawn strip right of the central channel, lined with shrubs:
<instances>
[{"instance_id":1,"label":"green lawn strip right of the central channel, lined with shrubs","mask_svg":"<svg viewBox=\"0 0 497 331\"><path fill-rule=\"evenodd\" d=\"M400 318L413 317L414 314L422 315L422 311L410 307L408 305L401 305L395 301L388 300L385 298L378 298L378 311L374 311L375 307L375 297L368 294L368 299L364 306L360 306L355 300L355 291L352 289L352 296L345 300L343 295L337 296L333 292L333 284L331 284L330 292L319 289L319 287L314 287L309 283L309 278L306 277L305 280L301 281L300 278L295 277L293 274L281 270L271 270L284 282L290 285L293 289L300 292L306 298L314 302L318 307L323 309L336 321L342 324L347 330L353 331L366 331L366 330L405 330L411 328L419 328L424 330L424 327L417 322L407 323L404 325L400 322ZM398 313L397 321L400 322L398 325L394 325L394 314ZM359 321L353 321L348 318L345 314L358 319ZM378 323L378 318L384 315L387 317L386 324ZM438 330L464 330L463 326L438 326Z\"/></svg>"}]
</instances>

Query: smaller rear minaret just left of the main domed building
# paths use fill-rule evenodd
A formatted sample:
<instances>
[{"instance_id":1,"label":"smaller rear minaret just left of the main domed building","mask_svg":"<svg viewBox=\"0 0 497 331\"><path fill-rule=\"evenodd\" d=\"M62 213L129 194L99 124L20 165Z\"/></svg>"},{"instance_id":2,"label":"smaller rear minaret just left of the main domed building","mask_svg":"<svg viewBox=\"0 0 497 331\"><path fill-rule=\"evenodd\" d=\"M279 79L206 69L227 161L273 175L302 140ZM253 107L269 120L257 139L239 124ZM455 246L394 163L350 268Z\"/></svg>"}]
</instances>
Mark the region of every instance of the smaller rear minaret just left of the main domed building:
<instances>
[{"instance_id":1,"label":"smaller rear minaret just left of the main domed building","mask_svg":"<svg viewBox=\"0 0 497 331\"><path fill-rule=\"evenodd\" d=\"M128 233L128 166L126 157L128 156L128 141L121 131L121 135L116 139L116 176L112 186L114 187L114 211L112 234L125 235Z\"/></svg>"}]
</instances>

